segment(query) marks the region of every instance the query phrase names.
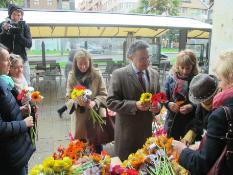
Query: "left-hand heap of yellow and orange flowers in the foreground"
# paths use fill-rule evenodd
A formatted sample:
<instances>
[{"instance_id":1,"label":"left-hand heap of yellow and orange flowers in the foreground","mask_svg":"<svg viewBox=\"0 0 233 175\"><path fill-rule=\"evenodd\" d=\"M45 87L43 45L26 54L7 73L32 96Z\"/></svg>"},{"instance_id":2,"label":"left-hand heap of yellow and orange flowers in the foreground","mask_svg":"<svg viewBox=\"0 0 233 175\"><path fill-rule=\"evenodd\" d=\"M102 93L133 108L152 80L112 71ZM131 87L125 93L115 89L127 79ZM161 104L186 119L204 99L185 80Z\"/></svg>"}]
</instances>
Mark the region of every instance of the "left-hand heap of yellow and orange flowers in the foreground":
<instances>
[{"instance_id":1,"label":"left-hand heap of yellow and orange flowers in the foreground","mask_svg":"<svg viewBox=\"0 0 233 175\"><path fill-rule=\"evenodd\" d=\"M94 153L92 145L70 140L67 148L59 146L57 152L34 166L29 175L81 175L110 174L111 157L106 151Z\"/></svg>"}]
</instances>

